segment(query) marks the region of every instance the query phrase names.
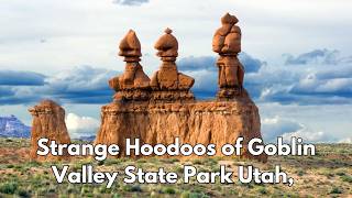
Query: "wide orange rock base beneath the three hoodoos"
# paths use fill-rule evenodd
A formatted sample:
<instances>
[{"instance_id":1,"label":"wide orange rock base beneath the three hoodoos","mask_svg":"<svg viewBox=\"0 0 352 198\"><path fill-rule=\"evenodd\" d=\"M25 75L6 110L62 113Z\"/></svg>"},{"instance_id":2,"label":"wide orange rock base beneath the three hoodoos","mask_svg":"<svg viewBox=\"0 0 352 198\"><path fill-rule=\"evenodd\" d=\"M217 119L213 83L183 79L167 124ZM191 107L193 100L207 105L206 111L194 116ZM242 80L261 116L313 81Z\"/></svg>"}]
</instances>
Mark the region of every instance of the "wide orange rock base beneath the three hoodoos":
<instances>
[{"instance_id":1,"label":"wide orange rock base beneath the three hoodoos","mask_svg":"<svg viewBox=\"0 0 352 198\"><path fill-rule=\"evenodd\" d=\"M170 144L175 138L193 145L213 143L218 152L239 136L244 138L244 145L253 138L262 138L257 108L246 96L232 101L112 102L101 111L102 123L95 143L119 144L122 151L125 139L135 138L148 144ZM266 162L264 155L243 156Z\"/></svg>"}]
</instances>

